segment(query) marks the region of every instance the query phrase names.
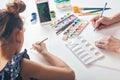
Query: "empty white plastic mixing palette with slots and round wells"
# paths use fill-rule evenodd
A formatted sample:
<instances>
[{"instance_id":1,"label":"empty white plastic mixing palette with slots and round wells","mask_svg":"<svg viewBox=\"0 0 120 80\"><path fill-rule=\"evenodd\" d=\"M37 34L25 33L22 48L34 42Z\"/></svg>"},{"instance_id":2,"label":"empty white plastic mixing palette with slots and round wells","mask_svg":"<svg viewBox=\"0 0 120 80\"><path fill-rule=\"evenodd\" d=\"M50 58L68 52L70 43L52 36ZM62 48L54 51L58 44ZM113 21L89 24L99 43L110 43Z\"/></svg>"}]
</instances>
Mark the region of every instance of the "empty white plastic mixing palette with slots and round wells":
<instances>
[{"instance_id":1,"label":"empty white plastic mixing palette with slots and round wells","mask_svg":"<svg viewBox=\"0 0 120 80\"><path fill-rule=\"evenodd\" d=\"M66 46L84 64L90 64L104 56L82 36L67 40Z\"/></svg>"}]
</instances>

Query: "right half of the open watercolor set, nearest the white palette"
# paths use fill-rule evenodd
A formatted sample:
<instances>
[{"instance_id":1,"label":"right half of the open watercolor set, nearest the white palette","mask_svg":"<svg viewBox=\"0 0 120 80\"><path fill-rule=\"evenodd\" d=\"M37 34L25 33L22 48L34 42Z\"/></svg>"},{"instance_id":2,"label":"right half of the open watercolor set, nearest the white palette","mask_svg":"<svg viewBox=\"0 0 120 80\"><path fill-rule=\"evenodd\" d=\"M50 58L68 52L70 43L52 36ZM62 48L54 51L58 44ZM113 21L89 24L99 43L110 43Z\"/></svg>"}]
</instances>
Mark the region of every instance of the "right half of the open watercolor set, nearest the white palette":
<instances>
[{"instance_id":1,"label":"right half of the open watercolor set, nearest the white palette","mask_svg":"<svg viewBox=\"0 0 120 80\"><path fill-rule=\"evenodd\" d=\"M68 40L69 38L77 37L83 29L87 26L87 20L76 19L67 29L63 32L63 40Z\"/></svg>"}]
</instances>

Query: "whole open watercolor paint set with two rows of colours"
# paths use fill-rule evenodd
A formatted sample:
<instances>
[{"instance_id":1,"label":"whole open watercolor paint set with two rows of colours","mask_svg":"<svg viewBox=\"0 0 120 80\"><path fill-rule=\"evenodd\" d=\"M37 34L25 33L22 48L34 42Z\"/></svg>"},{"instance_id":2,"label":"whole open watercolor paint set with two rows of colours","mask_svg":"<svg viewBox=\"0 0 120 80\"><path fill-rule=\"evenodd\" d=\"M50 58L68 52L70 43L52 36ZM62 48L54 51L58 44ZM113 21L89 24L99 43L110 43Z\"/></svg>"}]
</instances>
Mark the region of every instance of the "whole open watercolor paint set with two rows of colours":
<instances>
[{"instance_id":1,"label":"whole open watercolor paint set with two rows of colours","mask_svg":"<svg viewBox=\"0 0 120 80\"><path fill-rule=\"evenodd\" d=\"M51 26L56 30L56 34L62 33L62 39L77 37L87 26L88 21L79 19L75 14L68 13L60 19L54 21Z\"/></svg>"}]
</instances>

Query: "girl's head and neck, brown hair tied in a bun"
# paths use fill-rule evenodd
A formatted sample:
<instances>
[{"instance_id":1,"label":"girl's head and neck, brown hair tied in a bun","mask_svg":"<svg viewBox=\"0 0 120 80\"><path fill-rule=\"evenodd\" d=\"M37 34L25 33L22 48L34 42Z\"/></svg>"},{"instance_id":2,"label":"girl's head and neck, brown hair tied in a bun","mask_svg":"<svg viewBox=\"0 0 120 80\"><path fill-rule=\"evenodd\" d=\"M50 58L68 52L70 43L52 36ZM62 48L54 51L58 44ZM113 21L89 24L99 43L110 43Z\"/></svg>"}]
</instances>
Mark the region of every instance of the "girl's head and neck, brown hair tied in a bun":
<instances>
[{"instance_id":1,"label":"girl's head and neck, brown hair tied in a bun","mask_svg":"<svg viewBox=\"0 0 120 80\"><path fill-rule=\"evenodd\" d=\"M24 42L24 28L19 13L25 8L23 1L14 0L7 5L7 9L0 10L0 46L3 50L12 45L16 51L20 51Z\"/></svg>"}]
</instances>

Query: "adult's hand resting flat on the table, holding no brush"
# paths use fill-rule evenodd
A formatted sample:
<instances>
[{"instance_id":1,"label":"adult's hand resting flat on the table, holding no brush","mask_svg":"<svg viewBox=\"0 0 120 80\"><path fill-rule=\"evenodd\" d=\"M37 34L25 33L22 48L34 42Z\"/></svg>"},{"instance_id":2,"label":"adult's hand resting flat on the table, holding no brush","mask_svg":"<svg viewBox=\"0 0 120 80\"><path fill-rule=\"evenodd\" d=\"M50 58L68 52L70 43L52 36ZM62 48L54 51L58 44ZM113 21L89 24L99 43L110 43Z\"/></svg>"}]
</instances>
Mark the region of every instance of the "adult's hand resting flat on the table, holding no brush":
<instances>
[{"instance_id":1,"label":"adult's hand resting flat on the table, holding no brush","mask_svg":"<svg viewBox=\"0 0 120 80\"><path fill-rule=\"evenodd\" d=\"M108 36L99 41L96 41L95 45L101 49L120 53L120 40L113 36Z\"/></svg>"}]
</instances>

